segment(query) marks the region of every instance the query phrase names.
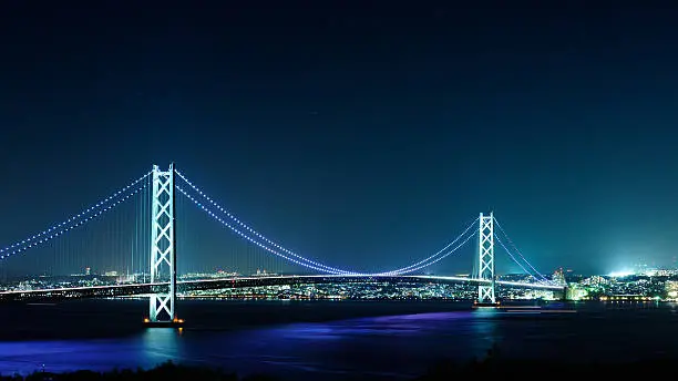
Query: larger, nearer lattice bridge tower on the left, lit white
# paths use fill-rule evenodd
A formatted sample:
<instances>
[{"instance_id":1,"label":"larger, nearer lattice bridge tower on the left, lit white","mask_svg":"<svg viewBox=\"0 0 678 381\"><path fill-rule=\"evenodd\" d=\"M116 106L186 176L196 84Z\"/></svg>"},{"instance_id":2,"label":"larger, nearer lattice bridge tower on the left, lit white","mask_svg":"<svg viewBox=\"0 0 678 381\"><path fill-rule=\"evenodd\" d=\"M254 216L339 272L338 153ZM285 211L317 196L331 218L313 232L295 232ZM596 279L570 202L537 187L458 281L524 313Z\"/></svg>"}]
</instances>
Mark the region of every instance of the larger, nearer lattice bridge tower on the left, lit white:
<instances>
[{"instance_id":1,"label":"larger, nearer lattice bridge tower on the left, lit white","mask_svg":"<svg viewBox=\"0 0 678 381\"><path fill-rule=\"evenodd\" d=\"M151 282L170 282L167 292L151 295L148 319L156 326L172 326L182 320L175 311L176 299L176 235L174 205L174 163L168 171L153 166L151 200Z\"/></svg>"}]
</instances>

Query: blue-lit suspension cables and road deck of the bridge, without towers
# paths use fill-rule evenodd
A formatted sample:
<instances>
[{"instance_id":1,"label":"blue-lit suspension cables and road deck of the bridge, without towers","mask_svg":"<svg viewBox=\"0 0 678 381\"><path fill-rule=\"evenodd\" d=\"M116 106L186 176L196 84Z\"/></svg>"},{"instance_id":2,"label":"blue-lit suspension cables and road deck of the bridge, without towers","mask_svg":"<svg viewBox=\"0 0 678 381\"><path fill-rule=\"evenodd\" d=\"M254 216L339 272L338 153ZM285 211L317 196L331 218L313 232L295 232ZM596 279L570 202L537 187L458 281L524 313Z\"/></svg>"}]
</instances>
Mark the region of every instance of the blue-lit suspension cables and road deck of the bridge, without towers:
<instances>
[{"instance_id":1,"label":"blue-lit suspension cables and road deck of the bridge, without towers","mask_svg":"<svg viewBox=\"0 0 678 381\"><path fill-rule=\"evenodd\" d=\"M381 285L379 287L388 287L390 284L399 284L399 285L420 285L428 284L436 285L436 284L449 284L449 282L465 282L473 284L480 288L489 288L487 285L501 285L508 287L524 287L524 288L533 288L540 290L563 290L563 286L548 284L544 280L545 278L536 271L534 266L532 266L525 257L517 250L513 241L507 237L505 231L496 224L499 229L504 234L503 238L494 236L494 233L490 235L484 235L483 237L487 239L496 239L497 243L508 253L508 256L513 261L520 265L520 267L528 274L532 278L536 279L537 284L527 284L521 281L511 281L511 280L495 280L496 277L481 277L479 275L474 275L472 277L444 277L444 276L414 276L408 275L413 274L423 268L430 267L442 259L451 257L453 254L460 253L460 248L470 243L474 237L479 237L479 231L472 231L475 224L480 218L475 218L473 223L471 223L465 229L456 236L451 243L444 246L439 251L424 257L423 259L417 260L408 266L396 268L388 271L382 272L356 272L348 269L341 269L337 267L331 267L322 264L319 260L314 260L310 258L302 257L300 255L295 254L291 250L286 249L281 245L268 239L265 235L259 231L256 231L249 225L245 224L242 219L232 215L227 209L217 204L213 198L207 196L201 188L194 185L191 181L188 181L182 173L174 169L174 165L170 166L170 171L158 171L157 166L154 166L152 172L146 173L145 175L138 177L136 181L121 188L120 190L113 193L112 195L101 199L100 202L93 204L92 206L85 208L84 210L70 216L59 224L54 224L47 229L43 229L40 233L32 234L28 236L28 238L17 240L12 245L7 246L4 248L0 248L0 259L4 260L9 256L22 253L24 254L27 250L38 247L44 246L47 243L56 239L59 237L68 236L66 233L75 229L76 227L83 226L89 222L93 220L97 216L105 214L107 210L113 210L117 205L130 199L136 194L145 194L142 190L146 189L148 183L146 179L150 178L150 175L156 176L161 174L162 176L168 176L172 179L170 183L163 183L162 190L172 194L172 204L174 207L174 192L178 192L182 195L186 196L198 209L205 212L216 222L222 224L222 226L228 228L234 231L239 238L244 239L248 244L255 245L274 256L285 259L287 262L302 266L312 270L314 272L319 272L319 275L310 275L310 276L267 276L267 277L228 277L228 278L214 278L214 279L197 279L197 280L179 280L174 282L175 278L168 277L166 279L172 279L172 285L181 286L182 290L187 289L214 289L217 287L220 288L242 288L242 287L268 287L270 285L301 285L301 284L358 284L358 282L372 282L377 285ZM182 182L182 186L174 183L174 174L178 176ZM154 177L155 178L155 177ZM155 187L155 183L154 187ZM167 185L170 184L170 185ZM184 184L187 184L184 187ZM150 192L151 193L151 192ZM153 192L155 194L155 190ZM154 197L157 197L155 195ZM157 199L155 199L157 202ZM155 205L155 204L154 204ZM170 206L164 207L162 210L170 210ZM153 212L155 213L155 212ZM491 214L491 217L493 215ZM494 224L494 218L491 218L492 224ZM487 223L487 222L486 222ZM506 241L508 245L504 245ZM512 247L511 247L512 246ZM515 254L515 255L514 255ZM494 251L492 251L492 257L494 256ZM172 266L171 266L172 267ZM83 298L83 297L115 297L123 295L158 295L167 291L170 287L170 282L165 281L148 281L148 279L155 280L153 277L155 272L148 271L145 276L143 282L133 284L126 281L116 280L115 285L103 285L105 282L97 282L96 286L76 286L70 287L66 285L55 284L49 285L49 282L34 282L28 286L21 286L22 288L33 288L31 290L27 289L17 289L17 290L4 290L0 291L0 299L30 299L30 298ZM484 279L481 279L484 278ZM431 286L432 287L432 286ZM176 292L175 287L170 287L172 291L167 292ZM423 291L422 291L423 292ZM427 295L434 295L433 291L427 291ZM535 294L536 295L536 294ZM372 295L373 296L373 295ZM250 297L253 298L261 298L260 294L254 292ZM306 295L292 295L294 298L305 298L308 297ZM389 295L392 298L403 298L407 299L411 297L411 295ZM634 300L647 300L647 298L638 299L634 298ZM171 315L170 318L175 316ZM151 318L153 321L154 318ZM178 319L181 320L181 319ZM176 322L179 322L176 320ZM183 320L182 320L183 322Z\"/></svg>"}]
</instances>

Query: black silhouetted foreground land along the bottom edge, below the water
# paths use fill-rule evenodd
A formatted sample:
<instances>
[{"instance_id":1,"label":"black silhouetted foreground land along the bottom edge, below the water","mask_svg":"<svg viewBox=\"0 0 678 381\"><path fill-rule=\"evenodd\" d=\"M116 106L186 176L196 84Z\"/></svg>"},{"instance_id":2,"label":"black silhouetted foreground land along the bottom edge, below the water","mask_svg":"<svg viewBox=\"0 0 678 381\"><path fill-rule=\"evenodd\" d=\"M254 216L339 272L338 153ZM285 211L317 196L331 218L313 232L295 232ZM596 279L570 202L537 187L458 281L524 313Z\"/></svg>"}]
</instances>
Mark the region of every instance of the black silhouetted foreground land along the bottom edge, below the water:
<instances>
[{"instance_id":1,"label":"black silhouetted foreground land along the bottom edge, below the water","mask_svg":"<svg viewBox=\"0 0 678 381\"><path fill-rule=\"evenodd\" d=\"M432 368L425 374L412 381L439 381L439 380L460 380L464 377L475 377L481 380L501 379L518 380L528 374L548 374L555 380L576 380L592 379L594 377L605 377L606 379L629 380L640 377L654 377L672 374L678 359L661 359L651 361L638 361L633 363L559 363L543 361L516 361L487 358L481 361L466 363L445 362ZM347 378L355 380L355 378ZM28 377L0 377L0 381L166 381L166 380L189 380L189 381L265 381L282 379L257 374L239 378L235 373L208 368L194 368L177 365L167 362L151 370L116 370L105 373L92 371L78 371L70 373L37 372ZM321 378L318 379L319 381ZM369 380L369 379L364 379ZM398 380L402 380L399 378Z\"/></svg>"}]
</instances>

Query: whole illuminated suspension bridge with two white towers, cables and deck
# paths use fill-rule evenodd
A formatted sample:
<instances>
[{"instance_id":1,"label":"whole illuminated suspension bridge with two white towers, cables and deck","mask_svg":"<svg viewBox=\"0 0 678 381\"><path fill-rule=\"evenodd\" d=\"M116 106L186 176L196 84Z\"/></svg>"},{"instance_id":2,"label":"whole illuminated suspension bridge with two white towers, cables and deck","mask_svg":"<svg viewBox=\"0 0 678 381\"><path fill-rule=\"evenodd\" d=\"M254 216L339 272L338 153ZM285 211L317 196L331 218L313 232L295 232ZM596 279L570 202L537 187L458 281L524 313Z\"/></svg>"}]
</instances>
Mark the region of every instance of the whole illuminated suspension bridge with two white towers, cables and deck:
<instances>
[{"instance_id":1,"label":"whole illuminated suspension bridge with two white towers, cables and deck","mask_svg":"<svg viewBox=\"0 0 678 381\"><path fill-rule=\"evenodd\" d=\"M177 216L184 218L196 212L217 224L191 224L194 229L189 230L188 224L181 219L182 228L177 229ZM109 218L109 215L115 217ZM99 225L97 228L94 225ZM237 239L228 245L201 247L207 241L202 234L223 235L223 230L214 231L215 225L226 228L233 233L229 236ZM73 239L64 239L65 236ZM475 243L477 250L472 276L421 274L458 254L462 247L471 246L470 243ZM497 279L495 243L526 275L527 281ZM230 253L223 254L225 250ZM222 255L215 256L214 251ZM204 271L209 267L205 264L214 262L215 257L219 266L227 267L218 277ZM177 279L177 264L183 262L186 265L181 267L182 271L193 275ZM38 279L30 285L23 281L1 289L0 300L148 295L146 321L157 325L182 322L176 311L177 291L374 280L470 282L477 287L477 303L495 305L497 286L554 291L564 291L565 287L554 284L532 266L492 213L481 213L440 250L404 267L368 272L330 266L301 256L255 230L209 197L174 164L167 171L154 165L148 173L84 210L0 248L0 267L6 276L8 272L32 274ZM91 274L92 268L100 269L99 277ZM257 274L253 276L254 268ZM265 276L260 268L265 269ZM101 269L114 270L101 272ZM81 278L79 284L60 281L60 277L72 277L75 272ZM115 280L97 284L102 282L102 277Z\"/></svg>"}]
</instances>

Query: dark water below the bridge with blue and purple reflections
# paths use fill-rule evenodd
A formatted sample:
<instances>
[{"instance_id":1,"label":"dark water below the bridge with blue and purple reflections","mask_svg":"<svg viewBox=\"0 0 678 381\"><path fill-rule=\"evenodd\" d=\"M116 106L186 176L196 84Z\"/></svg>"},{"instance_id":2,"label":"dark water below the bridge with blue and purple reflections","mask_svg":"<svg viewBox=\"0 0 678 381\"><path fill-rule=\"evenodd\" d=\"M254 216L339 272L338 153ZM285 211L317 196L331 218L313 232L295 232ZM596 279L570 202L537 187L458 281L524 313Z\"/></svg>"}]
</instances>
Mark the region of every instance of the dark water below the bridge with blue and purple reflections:
<instances>
[{"instance_id":1,"label":"dark water below the bridge with blue and purple reflections","mask_svg":"<svg viewBox=\"0 0 678 381\"><path fill-rule=\"evenodd\" d=\"M0 306L0 373L150 368L173 360L285 379L421 374L449 359L626 361L678 357L668 303L548 306L548 313L460 302L181 301L183 332L143 329L141 300ZM571 312L557 312L558 310ZM574 310L574 312L572 312Z\"/></svg>"}]
</instances>

